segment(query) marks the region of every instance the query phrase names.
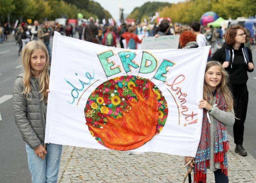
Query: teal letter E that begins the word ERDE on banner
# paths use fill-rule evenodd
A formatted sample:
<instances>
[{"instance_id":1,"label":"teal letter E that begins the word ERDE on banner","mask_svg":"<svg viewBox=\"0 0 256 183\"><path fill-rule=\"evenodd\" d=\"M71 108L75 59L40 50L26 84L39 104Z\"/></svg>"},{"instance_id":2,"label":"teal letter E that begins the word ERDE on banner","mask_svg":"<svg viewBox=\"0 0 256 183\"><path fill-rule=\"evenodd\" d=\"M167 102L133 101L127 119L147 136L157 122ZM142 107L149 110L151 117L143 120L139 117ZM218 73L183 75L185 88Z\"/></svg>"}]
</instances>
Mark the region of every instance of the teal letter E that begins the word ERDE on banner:
<instances>
[{"instance_id":1,"label":"teal letter E that begins the word ERDE on banner","mask_svg":"<svg viewBox=\"0 0 256 183\"><path fill-rule=\"evenodd\" d=\"M110 50L110 51L106 51L106 52L103 52L101 54L98 55L98 58L100 60L100 63L102 65L102 68L106 74L107 77L109 76L112 76L114 74L117 74L119 72L121 72L121 70L119 69L119 67L115 67L113 69L111 69L110 67L112 67L114 64L113 62L108 62L108 58L113 56L113 52Z\"/></svg>"}]
</instances>

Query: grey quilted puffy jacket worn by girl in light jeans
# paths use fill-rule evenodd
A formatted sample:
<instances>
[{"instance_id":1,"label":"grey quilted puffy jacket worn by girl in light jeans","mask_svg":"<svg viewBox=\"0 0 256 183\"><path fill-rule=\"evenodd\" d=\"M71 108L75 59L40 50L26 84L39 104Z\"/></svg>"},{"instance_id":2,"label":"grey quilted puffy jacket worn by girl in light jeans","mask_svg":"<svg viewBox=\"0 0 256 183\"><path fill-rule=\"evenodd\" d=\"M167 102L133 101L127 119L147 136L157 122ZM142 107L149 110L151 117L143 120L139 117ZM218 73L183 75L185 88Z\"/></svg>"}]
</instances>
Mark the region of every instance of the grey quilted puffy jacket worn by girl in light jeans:
<instances>
[{"instance_id":1,"label":"grey quilted puffy jacket worn by girl in light jeans","mask_svg":"<svg viewBox=\"0 0 256 183\"><path fill-rule=\"evenodd\" d=\"M34 77L30 78L31 92L27 100L23 92L23 76L21 72L14 82L13 89L13 109L14 121L21 133L22 139L35 149L44 141L45 119L43 104L40 101L41 94L38 94L39 86Z\"/></svg>"}]
</instances>

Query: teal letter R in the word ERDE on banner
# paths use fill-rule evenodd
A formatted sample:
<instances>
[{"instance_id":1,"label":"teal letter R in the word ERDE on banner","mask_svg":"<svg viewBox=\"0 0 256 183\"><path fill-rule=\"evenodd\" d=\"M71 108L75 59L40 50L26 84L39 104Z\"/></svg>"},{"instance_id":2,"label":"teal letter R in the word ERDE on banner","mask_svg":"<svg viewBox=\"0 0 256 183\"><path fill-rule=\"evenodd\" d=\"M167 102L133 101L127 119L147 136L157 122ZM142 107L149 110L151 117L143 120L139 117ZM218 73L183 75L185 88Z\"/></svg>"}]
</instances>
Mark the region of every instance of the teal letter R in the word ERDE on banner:
<instances>
[{"instance_id":1,"label":"teal letter R in the word ERDE on banner","mask_svg":"<svg viewBox=\"0 0 256 183\"><path fill-rule=\"evenodd\" d=\"M125 72L130 72L129 65L133 68L138 68L139 66L132 62L132 60L135 58L135 53L131 51L122 51L119 52L119 57L121 59L121 62L123 64Z\"/></svg>"}]
</instances>

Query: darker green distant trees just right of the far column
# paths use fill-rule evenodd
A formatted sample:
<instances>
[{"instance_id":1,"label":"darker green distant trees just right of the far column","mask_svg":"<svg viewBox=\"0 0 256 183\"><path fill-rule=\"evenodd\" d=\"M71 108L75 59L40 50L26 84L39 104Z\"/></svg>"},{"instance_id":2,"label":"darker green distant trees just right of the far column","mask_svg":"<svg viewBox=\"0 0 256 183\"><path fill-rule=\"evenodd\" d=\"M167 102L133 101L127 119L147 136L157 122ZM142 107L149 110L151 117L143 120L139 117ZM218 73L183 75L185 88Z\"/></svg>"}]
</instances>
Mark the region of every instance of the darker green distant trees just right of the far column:
<instances>
[{"instance_id":1,"label":"darker green distant trees just right of the far column","mask_svg":"<svg viewBox=\"0 0 256 183\"><path fill-rule=\"evenodd\" d=\"M133 11L128 15L128 19L141 20L142 17L152 17L155 15L155 12L159 9L168 6L170 7L170 3L163 2L147 2L144 3L141 7L136 7Z\"/></svg>"}]
</instances>

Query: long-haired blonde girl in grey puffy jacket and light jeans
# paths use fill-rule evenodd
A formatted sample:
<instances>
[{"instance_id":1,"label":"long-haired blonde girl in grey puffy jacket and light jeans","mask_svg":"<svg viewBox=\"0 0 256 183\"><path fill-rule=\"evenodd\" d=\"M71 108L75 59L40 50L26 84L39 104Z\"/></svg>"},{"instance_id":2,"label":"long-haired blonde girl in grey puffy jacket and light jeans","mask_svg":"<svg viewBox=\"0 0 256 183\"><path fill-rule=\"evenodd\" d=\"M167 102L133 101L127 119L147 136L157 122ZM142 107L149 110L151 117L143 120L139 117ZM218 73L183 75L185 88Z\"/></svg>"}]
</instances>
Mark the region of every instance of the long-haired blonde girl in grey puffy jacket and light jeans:
<instances>
[{"instance_id":1,"label":"long-haired blonde girl in grey puffy jacket and light jeans","mask_svg":"<svg viewBox=\"0 0 256 183\"><path fill-rule=\"evenodd\" d=\"M23 71L14 82L15 123L26 142L28 167L33 183L57 182L62 145L44 148L47 98L49 88L49 54L40 40L22 49Z\"/></svg>"}]
</instances>

